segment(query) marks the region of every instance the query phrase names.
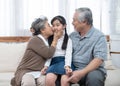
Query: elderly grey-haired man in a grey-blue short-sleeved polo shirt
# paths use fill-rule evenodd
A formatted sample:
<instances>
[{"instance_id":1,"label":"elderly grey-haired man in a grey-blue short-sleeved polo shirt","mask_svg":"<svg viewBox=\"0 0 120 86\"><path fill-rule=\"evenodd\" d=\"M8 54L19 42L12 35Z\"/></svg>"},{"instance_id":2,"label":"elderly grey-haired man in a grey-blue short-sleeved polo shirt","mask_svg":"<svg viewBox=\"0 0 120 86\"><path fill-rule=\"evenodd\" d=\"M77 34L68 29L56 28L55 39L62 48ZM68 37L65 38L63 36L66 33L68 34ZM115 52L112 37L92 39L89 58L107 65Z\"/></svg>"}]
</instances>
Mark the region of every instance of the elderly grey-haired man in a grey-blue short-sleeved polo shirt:
<instances>
[{"instance_id":1,"label":"elderly grey-haired man in a grey-blue short-sleeved polo shirt","mask_svg":"<svg viewBox=\"0 0 120 86\"><path fill-rule=\"evenodd\" d=\"M73 63L75 71L69 78L80 86L104 86L107 57L106 37L93 26L89 8L75 10L72 22L75 32L70 34L73 43Z\"/></svg>"}]
</instances>

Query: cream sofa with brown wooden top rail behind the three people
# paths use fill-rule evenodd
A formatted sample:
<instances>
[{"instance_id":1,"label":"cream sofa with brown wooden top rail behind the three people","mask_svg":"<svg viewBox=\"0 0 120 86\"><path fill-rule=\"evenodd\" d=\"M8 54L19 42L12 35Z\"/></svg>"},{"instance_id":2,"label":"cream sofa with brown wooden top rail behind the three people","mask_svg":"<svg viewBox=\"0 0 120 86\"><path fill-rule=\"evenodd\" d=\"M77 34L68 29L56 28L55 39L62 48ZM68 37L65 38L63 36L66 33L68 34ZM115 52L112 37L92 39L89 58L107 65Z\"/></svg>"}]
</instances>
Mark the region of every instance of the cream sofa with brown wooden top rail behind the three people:
<instances>
[{"instance_id":1,"label":"cream sofa with brown wooden top rail behind the three people","mask_svg":"<svg viewBox=\"0 0 120 86\"><path fill-rule=\"evenodd\" d=\"M23 57L29 38L26 36L0 37L0 86L11 86L10 80ZM106 61L106 68L108 76L105 86L120 86L120 69L113 66L111 59Z\"/></svg>"}]
</instances>

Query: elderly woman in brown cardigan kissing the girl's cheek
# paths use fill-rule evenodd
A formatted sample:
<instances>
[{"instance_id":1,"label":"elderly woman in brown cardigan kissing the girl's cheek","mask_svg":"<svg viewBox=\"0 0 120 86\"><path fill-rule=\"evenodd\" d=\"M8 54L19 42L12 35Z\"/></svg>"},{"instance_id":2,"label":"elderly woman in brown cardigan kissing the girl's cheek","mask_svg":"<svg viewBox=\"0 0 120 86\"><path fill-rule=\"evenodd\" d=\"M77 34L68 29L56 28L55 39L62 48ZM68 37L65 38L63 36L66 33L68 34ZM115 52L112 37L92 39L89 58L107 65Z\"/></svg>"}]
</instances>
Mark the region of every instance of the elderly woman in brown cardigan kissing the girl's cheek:
<instances>
[{"instance_id":1,"label":"elderly woman in brown cardigan kissing the girl's cheek","mask_svg":"<svg viewBox=\"0 0 120 86\"><path fill-rule=\"evenodd\" d=\"M49 46L47 39L53 35L48 19L44 16L36 19L31 25L33 37L29 40L25 54L17 67L12 86L44 86L41 83L41 69L47 59L55 52L60 32L54 33L54 39Z\"/></svg>"}]
</instances>

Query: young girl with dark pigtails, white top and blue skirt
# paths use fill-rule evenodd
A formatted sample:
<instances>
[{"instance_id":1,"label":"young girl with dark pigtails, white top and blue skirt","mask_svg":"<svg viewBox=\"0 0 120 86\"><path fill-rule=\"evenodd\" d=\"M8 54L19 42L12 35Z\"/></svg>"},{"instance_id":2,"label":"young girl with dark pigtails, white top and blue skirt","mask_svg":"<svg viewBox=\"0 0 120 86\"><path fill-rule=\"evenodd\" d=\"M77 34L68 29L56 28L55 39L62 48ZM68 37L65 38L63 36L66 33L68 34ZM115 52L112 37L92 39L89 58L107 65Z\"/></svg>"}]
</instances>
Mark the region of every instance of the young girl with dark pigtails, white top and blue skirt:
<instances>
[{"instance_id":1,"label":"young girl with dark pigtails, white top and blue skirt","mask_svg":"<svg viewBox=\"0 0 120 86\"><path fill-rule=\"evenodd\" d=\"M59 75L61 75L61 86L69 86L67 78L71 75L74 69L72 62L72 41L68 38L66 31L66 20L63 16L56 16L51 20L53 26L53 31L61 32L62 35L58 39L56 46L56 51L52 57L49 59L42 73L46 73L46 86L55 86L55 82ZM49 38L49 43L51 43L52 37Z\"/></svg>"}]
</instances>

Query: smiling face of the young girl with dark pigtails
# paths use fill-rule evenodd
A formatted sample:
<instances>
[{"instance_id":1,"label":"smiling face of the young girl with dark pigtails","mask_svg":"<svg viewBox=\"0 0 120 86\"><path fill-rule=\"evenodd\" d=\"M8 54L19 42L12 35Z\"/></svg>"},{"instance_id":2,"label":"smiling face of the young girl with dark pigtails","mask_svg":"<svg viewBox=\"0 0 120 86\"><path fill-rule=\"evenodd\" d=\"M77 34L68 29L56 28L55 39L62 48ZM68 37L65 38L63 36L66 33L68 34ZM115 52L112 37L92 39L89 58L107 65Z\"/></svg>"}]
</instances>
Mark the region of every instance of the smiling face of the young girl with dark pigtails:
<instances>
[{"instance_id":1,"label":"smiling face of the young girl with dark pigtails","mask_svg":"<svg viewBox=\"0 0 120 86\"><path fill-rule=\"evenodd\" d=\"M61 24L59 20L55 20L52 24L52 27L53 31L63 31L66 25Z\"/></svg>"}]
</instances>

